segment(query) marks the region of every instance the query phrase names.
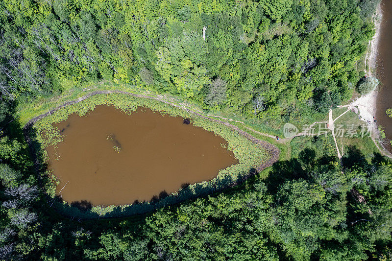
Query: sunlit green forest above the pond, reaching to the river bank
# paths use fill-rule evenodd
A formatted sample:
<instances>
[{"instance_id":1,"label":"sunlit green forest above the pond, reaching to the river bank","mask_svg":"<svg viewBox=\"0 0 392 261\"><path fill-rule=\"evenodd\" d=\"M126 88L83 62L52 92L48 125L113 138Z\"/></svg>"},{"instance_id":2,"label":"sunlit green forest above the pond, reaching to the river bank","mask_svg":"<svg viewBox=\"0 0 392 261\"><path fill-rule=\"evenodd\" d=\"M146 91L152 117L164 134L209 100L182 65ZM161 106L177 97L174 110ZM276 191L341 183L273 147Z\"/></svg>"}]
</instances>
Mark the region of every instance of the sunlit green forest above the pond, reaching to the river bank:
<instances>
[{"instance_id":1,"label":"sunlit green forest above the pond, reaching to the river bank","mask_svg":"<svg viewBox=\"0 0 392 261\"><path fill-rule=\"evenodd\" d=\"M351 86L362 75L357 64L374 33L369 17L377 4L28 2L23 7L2 2L7 12L0 14L6 24L1 88L19 104L106 81L180 95L205 109L262 120L269 115L277 128L290 114L289 104L306 106L312 99L311 109L324 113L351 97ZM227 102L219 108L205 98L218 77L227 83ZM61 85L70 81L70 89ZM262 114L253 113L255 96L269 103ZM311 116L309 111L299 114Z\"/></svg>"}]
</instances>

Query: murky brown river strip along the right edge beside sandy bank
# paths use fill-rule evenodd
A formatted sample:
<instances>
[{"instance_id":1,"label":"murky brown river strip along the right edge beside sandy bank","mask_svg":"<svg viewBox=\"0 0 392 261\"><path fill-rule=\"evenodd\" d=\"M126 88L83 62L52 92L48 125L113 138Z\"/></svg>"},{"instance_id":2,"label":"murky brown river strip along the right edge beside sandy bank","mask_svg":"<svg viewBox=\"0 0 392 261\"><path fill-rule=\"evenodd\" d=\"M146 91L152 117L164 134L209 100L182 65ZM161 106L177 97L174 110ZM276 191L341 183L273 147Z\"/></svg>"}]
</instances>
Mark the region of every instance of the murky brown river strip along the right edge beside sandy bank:
<instances>
[{"instance_id":1,"label":"murky brown river strip along the right edge beside sandy bank","mask_svg":"<svg viewBox=\"0 0 392 261\"><path fill-rule=\"evenodd\" d=\"M387 139L392 140L392 118L386 115L392 108L392 1L382 0L382 20L377 53L377 78L380 88L377 95L377 123L385 127ZM391 146L387 145L389 151Z\"/></svg>"}]
</instances>

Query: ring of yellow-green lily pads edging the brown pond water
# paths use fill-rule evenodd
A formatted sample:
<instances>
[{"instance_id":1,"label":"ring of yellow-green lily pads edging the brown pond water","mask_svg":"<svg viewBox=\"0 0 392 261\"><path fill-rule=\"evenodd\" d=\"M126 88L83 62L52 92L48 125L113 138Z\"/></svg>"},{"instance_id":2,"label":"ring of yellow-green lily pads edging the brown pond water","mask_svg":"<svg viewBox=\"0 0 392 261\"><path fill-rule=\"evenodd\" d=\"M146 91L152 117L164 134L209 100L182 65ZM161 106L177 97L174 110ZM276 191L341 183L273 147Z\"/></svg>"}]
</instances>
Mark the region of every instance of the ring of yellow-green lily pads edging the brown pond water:
<instances>
[{"instance_id":1,"label":"ring of yellow-green lily pads edging the brown pond water","mask_svg":"<svg viewBox=\"0 0 392 261\"><path fill-rule=\"evenodd\" d=\"M134 95L120 93L93 95L79 103L60 108L51 115L37 121L32 126L30 133L34 135L32 140L37 146L35 150L40 151L40 161L45 162L48 159L48 155L44 149L45 147L62 142L60 130L54 128L52 125L53 123L67 119L72 113L76 113L80 116L86 115L88 112L94 110L95 106L102 104L115 106L116 109L122 110L127 114L131 114L138 107L148 107L153 111L160 111L162 114L190 118L187 111L155 99L140 98ZM38 109L36 112L40 110L41 109ZM196 115L192 116L192 120L196 126L214 132L215 135L220 135L223 139L225 139L228 142L228 149L233 151L234 156L239 160L239 163L222 169L218 176L211 181L196 183L187 188L180 189L156 203L145 202L143 204L108 207L96 206L93 207L91 211L87 212L81 212L65 202L56 202L55 207L60 213L87 219L99 216L116 217L141 214L152 211L157 207L177 203L191 197L209 193L213 190L221 190L233 186L244 180L252 172L251 169L257 168L257 166L262 165L270 159L270 156L262 147L250 142L232 128ZM44 175L47 175L46 188L48 194L54 197L57 182L53 182L53 174L48 171L45 172Z\"/></svg>"}]
</instances>

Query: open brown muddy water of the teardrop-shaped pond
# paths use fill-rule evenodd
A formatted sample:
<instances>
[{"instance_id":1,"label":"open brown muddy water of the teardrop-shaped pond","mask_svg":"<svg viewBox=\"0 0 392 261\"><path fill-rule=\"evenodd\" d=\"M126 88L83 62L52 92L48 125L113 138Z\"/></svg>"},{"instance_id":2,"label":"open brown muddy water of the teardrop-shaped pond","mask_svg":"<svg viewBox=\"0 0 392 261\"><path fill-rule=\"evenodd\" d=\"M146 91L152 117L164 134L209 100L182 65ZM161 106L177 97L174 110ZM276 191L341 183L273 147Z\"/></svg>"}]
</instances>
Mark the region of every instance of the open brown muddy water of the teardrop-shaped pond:
<instances>
[{"instance_id":1,"label":"open brown muddy water of the teardrop-shaped pond","mask_svg":"<svg viewBox=\"0 0 392 261\"><path fill-rule=\"evenodd\" d=\"M60 180L56 193L61 190L68 203L148 201L182 184L211 180L238 163L220 136L146 108L126 115L100 105L54 126L64 137L47 148L48 168Z\"/></svg>"}]
</instances>

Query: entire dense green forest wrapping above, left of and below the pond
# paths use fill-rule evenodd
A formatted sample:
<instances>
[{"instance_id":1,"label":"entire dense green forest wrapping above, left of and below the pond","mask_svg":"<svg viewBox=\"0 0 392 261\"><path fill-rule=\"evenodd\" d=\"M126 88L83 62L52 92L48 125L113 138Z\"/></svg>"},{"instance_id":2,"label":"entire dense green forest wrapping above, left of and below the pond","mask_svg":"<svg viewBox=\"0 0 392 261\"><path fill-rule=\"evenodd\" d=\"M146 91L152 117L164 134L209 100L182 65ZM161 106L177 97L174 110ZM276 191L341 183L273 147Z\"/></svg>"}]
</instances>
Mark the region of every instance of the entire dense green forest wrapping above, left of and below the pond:
<instances>
[{"instance_id":1,"label":"entire dense green forest wrapping above, left of and below the pond","mask_svg":"<svg viewBox=\"0 0 392 261\"><path fill-rule=\"evenodd\" d=\"M312 148L243 184L140 216L48 204L18 120L37 100L113 83L206 112L325 116L364 76L378 0L0 1L1 260L391 260L392 164ZM115 87L113 87L115 88ZM322 146L321 146L322 147Z\"/></svg>"}]
</instances>

